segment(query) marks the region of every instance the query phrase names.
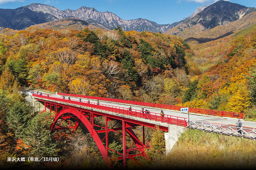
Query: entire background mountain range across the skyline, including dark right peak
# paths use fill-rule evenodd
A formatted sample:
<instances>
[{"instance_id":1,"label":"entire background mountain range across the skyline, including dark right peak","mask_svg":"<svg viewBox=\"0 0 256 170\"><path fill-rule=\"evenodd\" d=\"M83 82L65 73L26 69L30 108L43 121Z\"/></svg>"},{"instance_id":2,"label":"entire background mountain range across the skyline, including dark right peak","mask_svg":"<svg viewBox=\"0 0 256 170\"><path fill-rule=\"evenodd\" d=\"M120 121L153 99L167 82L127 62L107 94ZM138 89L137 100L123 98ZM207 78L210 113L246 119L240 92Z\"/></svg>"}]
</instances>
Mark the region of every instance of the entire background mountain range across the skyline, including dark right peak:
<instances>
[{"instance_id":1,"label":"entire background mountain range across the skyline, including dark right peak","mask_svg":"<svg viewBox=\"0 0 256 170\"><path fill-rule=\"evenodd\" d=\"M25 29L31 25L59 19L77 18L103 29L114 29L120 26L124 31L162 32L179 36L184 31L189 32L189 29L192 27L196 27L196 30L199 31L205 31L218 25L228 24L246 16L252 11L256 11L256 8L248 8L236 3L220 0L209 6L198 7L193 14L179 22L157 24L143 18L125 20L112 12L97 11L93 7L83 6L76 10L66 9L62 11L53 6L31 3L16 9L0 9L0 27Z\"/></svg>"}]
</instances>

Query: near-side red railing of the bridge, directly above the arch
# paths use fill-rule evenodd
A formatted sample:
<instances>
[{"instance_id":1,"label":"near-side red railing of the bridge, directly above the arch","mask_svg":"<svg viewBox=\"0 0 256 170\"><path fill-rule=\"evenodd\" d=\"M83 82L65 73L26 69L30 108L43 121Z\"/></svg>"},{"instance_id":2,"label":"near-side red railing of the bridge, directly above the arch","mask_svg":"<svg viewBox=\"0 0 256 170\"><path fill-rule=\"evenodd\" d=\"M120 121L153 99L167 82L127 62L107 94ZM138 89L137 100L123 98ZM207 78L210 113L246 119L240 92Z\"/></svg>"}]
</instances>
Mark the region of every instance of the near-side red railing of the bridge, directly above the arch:
<instances>
[{"instance_id":1,"label":"near-side red railing of the bridge, directly above the arch","mask_svg":"<svg viewBox=\"0 0 256 170\"><path fill-rule=\"evenodd\" d=\"M154 120L154 121L161 121L161 122L165 122L167 124L174 124L174 125L178 125L178 126L187 127L187 121L186 121L187 118L183 118L183 117L170 116L170 115L165 115L163 117L163 116L161 116L160 113L154 113L154 112L146 113L145 111L143 112L141 110L135 110L135 109L129 110L128 108L123 108L123 107L118 107L118 106L112 106L112 105L107 105L107 104L97 104L97 103L93 103L93 102L88 103L86 101L79 101L79 100L73 100L73 99L69 100L69 99L63 99L62 97L55 97L55 96L38 95L38 94L32 94L32 96L40 97L40 98L46 99L46 100L54 100L54 101L59 101L59 102L82 105L82 106L86 106L86 107L90 107L90 108L115 112L115 113L123 114L123 115L127 115L127 116L134 116L134 117L138 117L138 118L149 119L149 120Z\"/></svg>"}]
</instances>

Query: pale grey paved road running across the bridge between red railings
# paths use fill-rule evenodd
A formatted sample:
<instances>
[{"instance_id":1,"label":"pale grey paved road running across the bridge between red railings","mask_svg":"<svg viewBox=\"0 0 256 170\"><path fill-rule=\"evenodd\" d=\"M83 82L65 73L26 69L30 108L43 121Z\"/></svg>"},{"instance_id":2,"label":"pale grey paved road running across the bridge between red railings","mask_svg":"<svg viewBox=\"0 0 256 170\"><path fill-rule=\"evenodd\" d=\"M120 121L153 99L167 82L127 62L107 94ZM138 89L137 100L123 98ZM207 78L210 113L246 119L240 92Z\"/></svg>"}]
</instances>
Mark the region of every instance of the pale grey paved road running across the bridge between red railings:
<instances>
[{"instance_id":1,"label":"pale grey paved road running across the bridge between red railings","mask_svg":"<svg viewBox=\"0 0 256 170\"><path fill-rule=\"evenodd\" d=\"M28 92L30 92L30 91L28 91ZM37 91L34 91L34 92L37 92ZM42 92L42 94L49 94L49 93ZM56 94L49 94L49 96L62 97L61 95L56 95ZM68 98L68 96L66 96L66 99L67 98ZM71 97L71 99L79 100L77 97ZM87 99L82 99L82 101L87 101ZM97 101L93 100L93 99L90 99L90 102L97 103ZM123 108L129 107L129 104L114 103L114 102L108 102L108 101L100 101L100 104L113 105L113 106L118 106L118 107L123 107ZM189 113L189 115L188 115L188 113L181 113L178 111L167 110L167 109L165 110L165 109L152 108L152 107L141 107L138 105L131 105L131 107L132 107L132 109L136 109L136 110L141 110L141 108L144 108L144 109L149 110L150 112L159 113L159 114L160 114L161 110L163 110L165 115L183 117L183 118L187 118L187 120L188 120L188 116L189 116L189 121L196 121L196 122L208 122L208 123L212 123L212 124L236 126L235 123L238 121L238 119L235 119L235 118L220 118L220 117L207 116L207 115L195 114L195 113ZM243 127L256 128L256 122L244 121L244 120L241 120L241 122L242 122Z\"/></svg>"}]
</instances>

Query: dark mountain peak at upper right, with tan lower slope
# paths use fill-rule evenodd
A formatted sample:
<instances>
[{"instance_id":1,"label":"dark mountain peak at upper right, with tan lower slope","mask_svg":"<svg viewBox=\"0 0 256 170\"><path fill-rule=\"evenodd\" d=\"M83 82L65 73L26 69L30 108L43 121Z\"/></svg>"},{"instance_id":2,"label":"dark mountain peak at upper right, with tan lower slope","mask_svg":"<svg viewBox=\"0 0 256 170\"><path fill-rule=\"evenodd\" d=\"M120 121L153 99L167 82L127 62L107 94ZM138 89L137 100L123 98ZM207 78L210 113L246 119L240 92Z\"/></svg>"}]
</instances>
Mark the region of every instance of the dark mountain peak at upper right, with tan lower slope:
<instances>
[{"instance_id":1,"label":"dark mountain peak at upper right, with tan lower slope","mask_svg":"<svg viewBox=\"0 0 256 170\"><path fill-rule=\"evenodd\" d=\"M226 25L245 17L255 11L256 8L248 8L228 1L217 1L206 7L194 17L187 19L165 34L173 34L187 39L204 31L215 28L218 25ZM184 32L187 32L184 34Z\"/></svg>"}]
</instances>

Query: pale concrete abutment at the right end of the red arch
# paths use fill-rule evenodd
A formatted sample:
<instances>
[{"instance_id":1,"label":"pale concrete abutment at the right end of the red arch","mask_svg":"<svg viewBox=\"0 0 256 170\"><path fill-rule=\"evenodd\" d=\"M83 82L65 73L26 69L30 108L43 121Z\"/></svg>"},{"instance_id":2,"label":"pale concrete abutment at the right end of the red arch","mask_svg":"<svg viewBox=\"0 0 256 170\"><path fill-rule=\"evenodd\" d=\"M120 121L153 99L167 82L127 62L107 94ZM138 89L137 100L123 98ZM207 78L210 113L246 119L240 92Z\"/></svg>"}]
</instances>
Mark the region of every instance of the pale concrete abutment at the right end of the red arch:
<instances>
[{"instance_id":1,"label":"pale concrete abutment at the right end of the red arch","mask_svg":"<svg viewBox=\"0 0 256 170\"><path fill-rule=\"evenodd\" d=\"M178 138L185 131L186 128L183 126L169 125L168 129L169 132L164 134L166 156L172 150L172 147L176 144Z\"/></svg>"}]
</instances>

